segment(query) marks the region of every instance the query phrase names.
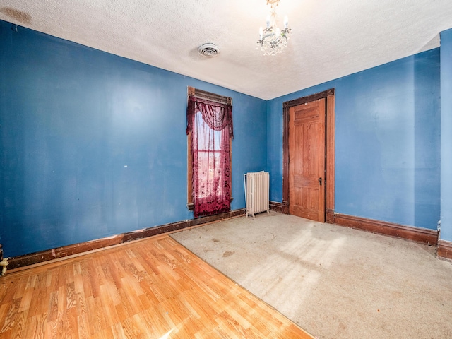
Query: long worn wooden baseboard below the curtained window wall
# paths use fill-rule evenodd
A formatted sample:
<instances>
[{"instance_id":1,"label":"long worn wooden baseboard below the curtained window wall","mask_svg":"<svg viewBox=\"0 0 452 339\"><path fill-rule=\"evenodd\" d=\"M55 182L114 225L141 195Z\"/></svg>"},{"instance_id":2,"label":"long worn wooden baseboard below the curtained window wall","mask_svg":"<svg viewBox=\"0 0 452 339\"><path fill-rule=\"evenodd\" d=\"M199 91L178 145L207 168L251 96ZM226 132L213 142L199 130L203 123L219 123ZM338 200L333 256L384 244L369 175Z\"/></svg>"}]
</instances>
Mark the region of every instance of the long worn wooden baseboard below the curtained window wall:
<instances>
[{"instance_id":1,"label":"long worn wooden baseboard below the curtained window wall","mask_svg":"<svg viewBox=\"0 0 452 339\"><path fill-rule=\"evenodd\" d=\"M95 249L102 249L108 246L122 244L124 242L130 242L131 240L142 239L146 237L152 237L157 234L174 232L182 230L187 227L193 227L196 225L206 224L208 222L214 222L218 220L224 220L228 218L234 218L239 215L244 215L245 209L232 210L227 213L218 215L208 215L202 218L196 218L191 220L185 220L180 222L173 222L166 225L149 227L144 230L138 230L133 232L127 232L118 234L113 237L107 237L102 239L95 239L90 242L81 242L78 244L72 244L68 246L57 247L56 249L47 249L45 251L39 251L31 254L24 254L22 256L16 256L9 259L8 269L19 268L23 266L33 265L35 263L43 263L44 261L50 261L58 258L64 258L65 256L73 256L74 254L81 254L87 251L93 251Z\"/></svg>"}]
</instances>

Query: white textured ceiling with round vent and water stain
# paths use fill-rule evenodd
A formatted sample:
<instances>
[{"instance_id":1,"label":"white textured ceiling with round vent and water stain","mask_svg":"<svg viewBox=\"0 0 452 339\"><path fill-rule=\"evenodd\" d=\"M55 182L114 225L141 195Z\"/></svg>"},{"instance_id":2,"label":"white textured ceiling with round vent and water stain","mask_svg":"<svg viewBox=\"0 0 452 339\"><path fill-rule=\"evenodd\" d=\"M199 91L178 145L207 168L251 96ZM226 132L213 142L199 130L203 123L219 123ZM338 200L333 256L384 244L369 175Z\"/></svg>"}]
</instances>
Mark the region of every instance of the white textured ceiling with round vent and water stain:
<instances>
[{"instance_id":1,"label":"white textured ceiling with round vent and water stain","mask_svg":"<svg viewBox=\"0 0 452 339\"><path fill-rule=\"evenodd\" d=\"M265 100L439 46L451 0L281 0L292 38L256 49L266 0L1 0L0 19ZM198 46L218 44L215 58Z\"/></svg>"}]
</instances>

